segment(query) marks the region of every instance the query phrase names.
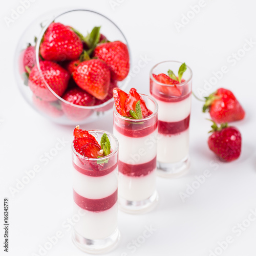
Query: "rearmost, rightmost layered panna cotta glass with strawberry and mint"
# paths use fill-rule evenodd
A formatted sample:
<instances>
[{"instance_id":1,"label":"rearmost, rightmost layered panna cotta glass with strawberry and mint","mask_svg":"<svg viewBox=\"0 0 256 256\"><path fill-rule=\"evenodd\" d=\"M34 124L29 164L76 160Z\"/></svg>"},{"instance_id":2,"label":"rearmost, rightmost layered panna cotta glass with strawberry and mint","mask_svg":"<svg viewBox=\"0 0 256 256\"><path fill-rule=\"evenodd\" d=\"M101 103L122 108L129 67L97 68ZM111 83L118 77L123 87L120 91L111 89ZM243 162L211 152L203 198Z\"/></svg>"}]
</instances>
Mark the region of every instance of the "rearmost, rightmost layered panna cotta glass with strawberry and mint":
<instances>
[{"instance_id":1,"label":"rearmost, rightmost layered panna cotta glass with strawberry and mint","mask_svg":"<svg viewBox=\"0 0 256 256\"><path fill-rule=\"evenodd\" d=\"M189 169L191 84L185 63L160 62L150 72L150 93L159 107L157 167L162 177L175 178Z\"/></svg>"}]
</instances>

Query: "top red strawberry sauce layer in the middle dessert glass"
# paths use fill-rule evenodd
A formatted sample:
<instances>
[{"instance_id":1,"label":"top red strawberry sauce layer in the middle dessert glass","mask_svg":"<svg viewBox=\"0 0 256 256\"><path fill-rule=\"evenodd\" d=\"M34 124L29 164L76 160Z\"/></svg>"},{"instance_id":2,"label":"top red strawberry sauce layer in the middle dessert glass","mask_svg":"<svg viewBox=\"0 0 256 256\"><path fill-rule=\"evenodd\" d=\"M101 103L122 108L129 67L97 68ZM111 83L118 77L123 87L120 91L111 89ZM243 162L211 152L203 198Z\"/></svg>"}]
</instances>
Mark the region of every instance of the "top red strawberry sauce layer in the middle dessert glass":
<instances>
[{"instance_id":1,"label":"top red strawberry sauce layer in the middle dessert glass","mask_svg":"<svg viewBox=\"0 0 256 256\"><path fill-rule=\"evenodd\" d=\"M130 121L129 119L123 120L114 115L114 127L122 135L132 138L140 138L150 135L157 129L157 117L153 117L152 119L138 122Z\"/></svg>"}]
</instances>

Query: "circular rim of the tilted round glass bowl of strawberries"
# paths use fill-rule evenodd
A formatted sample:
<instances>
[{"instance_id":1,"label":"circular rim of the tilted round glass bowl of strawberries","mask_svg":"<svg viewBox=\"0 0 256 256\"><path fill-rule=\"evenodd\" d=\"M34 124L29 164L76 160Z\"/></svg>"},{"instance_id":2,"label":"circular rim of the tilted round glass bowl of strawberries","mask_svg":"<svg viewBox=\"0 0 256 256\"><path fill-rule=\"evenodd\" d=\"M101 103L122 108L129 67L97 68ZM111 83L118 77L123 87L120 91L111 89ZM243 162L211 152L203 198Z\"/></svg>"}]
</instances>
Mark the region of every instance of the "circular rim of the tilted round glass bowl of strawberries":
<instances>
[{"instance_id":1,"label":"circular rim of the tilted round glass bowl of strawberries","mask_svg":"<svg viewBox=\"0 0 256 256\"><path fill-rule=\"evenodd\" d=\"M37 38L37 42L41 42L41 39L42 39L42 37L44 36L44 34L45 34L46 30L48 29L49 25L50 25L52 22L54 22L54 20L55 20L56 18L58 18L58 17L60 17L60 16L62 16L62 15L65 15L65 14L67 14L67 13L74 12L74 11L92 12L92 13L98 14L98 15L100 15L100 16L102 16L102 17L108 19L108 20L119 30L119 32L120 32L121 35L123 36L123 38L124 38L124 40L125 40L124 43L126 44L126 46L127 46L127 48L128 48L128 52L129 52L129 55L130 55L130 62L131 62L131 51L130 51L130 47L129 47L128 41L127 41L126 37L124 36L123 32L121 31L121 29L120 29L110 18L106 17L105 15L103 15L103 14L101 14L101 13L99 13L99 12L96 12L96 11L93 11L93 10L89 10L89 9L82 9L82 8L80 8L80 9L70 9L70 10L67 10L67 11L62 11L62 12L60 12L60 13L57 14L57 15L54 15L53 18L51 18L51 19L48 20L48 22L46 23L45 27L42 28L42 30L41 30L41 32L40 32L38 38ZM69 101L67 101L67 100L65 100L65 99L63 99L63 98L61 98L59 95L57 95L57 94L52 90L52 88L51 88L51 87L49 86L49 84L46 82L44 76L42 76L42 71L41 71L41 68L40 68L40 65L39 65L39 62L40 62L40 61L39 61L39 47L40 47L40 44L37 44L37 43L36 43L36 45L35 45L36 67L38 68L39 74L40 74L42 80L44 81L44 83L46 84L46 87L47 87L48 90L56 97L56 100L60 100L60 101L62 101L62 102L64 102L64 103L66 103L67 105L71 105L71 106L74 106L74 108L83 109L83 110L97 110L97 109L100 109L100 108L102 108L102 107L104 107L104 106L106 106L106 105L108 105L108 104L114 102L114 99L111 98L111 99L109 99L109 100L107 100L107 101L105 101L105 102L103 102L103 103L101 103L101 104L98 104L98 105L93 105L93 106L80 106L80 105L76 105L76 104L74 104L74 103L71 103L71 102L69 102ZM126 78L127 78L127 77L126 77ZM126 79L126 78L125 78L125 79ZM125 79L124 79L123 81L125 81ZM124 83L124 86L123 86L122 88L124 89L124 88L126 87L126 85L127 85L127 82Z\"/></svg>"}]
</instances>

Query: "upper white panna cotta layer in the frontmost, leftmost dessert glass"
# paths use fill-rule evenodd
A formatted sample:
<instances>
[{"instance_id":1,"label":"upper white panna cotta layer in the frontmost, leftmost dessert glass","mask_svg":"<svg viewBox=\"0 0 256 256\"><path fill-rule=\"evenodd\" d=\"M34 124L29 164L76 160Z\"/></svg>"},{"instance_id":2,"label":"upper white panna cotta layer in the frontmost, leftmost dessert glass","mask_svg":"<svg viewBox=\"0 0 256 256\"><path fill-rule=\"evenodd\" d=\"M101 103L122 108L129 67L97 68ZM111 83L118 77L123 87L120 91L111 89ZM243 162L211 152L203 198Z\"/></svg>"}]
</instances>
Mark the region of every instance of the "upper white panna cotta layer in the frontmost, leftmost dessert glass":
<instances>
[{"instance_id":1,"label":"upper white panna cotta layer in the frontmost, leftmost dessert glass","mask_svg":"<svg viewBox=\"0 0 256 256\"><path fill-rule=\"evenodd\" d=\"M118 187L118 167L104 176L88 176L73 168L73 189L82 197L101 199L112 195Z\"/></svg>"}]
</instances>

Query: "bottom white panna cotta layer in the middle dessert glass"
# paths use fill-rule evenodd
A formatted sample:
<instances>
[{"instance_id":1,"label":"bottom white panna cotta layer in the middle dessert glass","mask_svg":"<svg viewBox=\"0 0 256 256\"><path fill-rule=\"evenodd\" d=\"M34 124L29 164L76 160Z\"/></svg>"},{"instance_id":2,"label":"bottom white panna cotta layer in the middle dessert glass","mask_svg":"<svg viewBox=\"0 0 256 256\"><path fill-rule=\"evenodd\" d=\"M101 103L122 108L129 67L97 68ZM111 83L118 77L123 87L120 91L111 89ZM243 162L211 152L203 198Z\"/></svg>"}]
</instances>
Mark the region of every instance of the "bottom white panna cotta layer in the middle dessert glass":
<instances>
[{"instance_id":1,"label":"bottom white panna cotta layer in the middle dessert glass","mask_svg":"<svg viewBox=\"0 0 256 256\"><path fill-rule=\"evenodd\" d=\"M128 201L142 201L150 198L156 190L156 169L150 174L133 177L119 173L118 196Z\"/></svg>"}]
</instances>

